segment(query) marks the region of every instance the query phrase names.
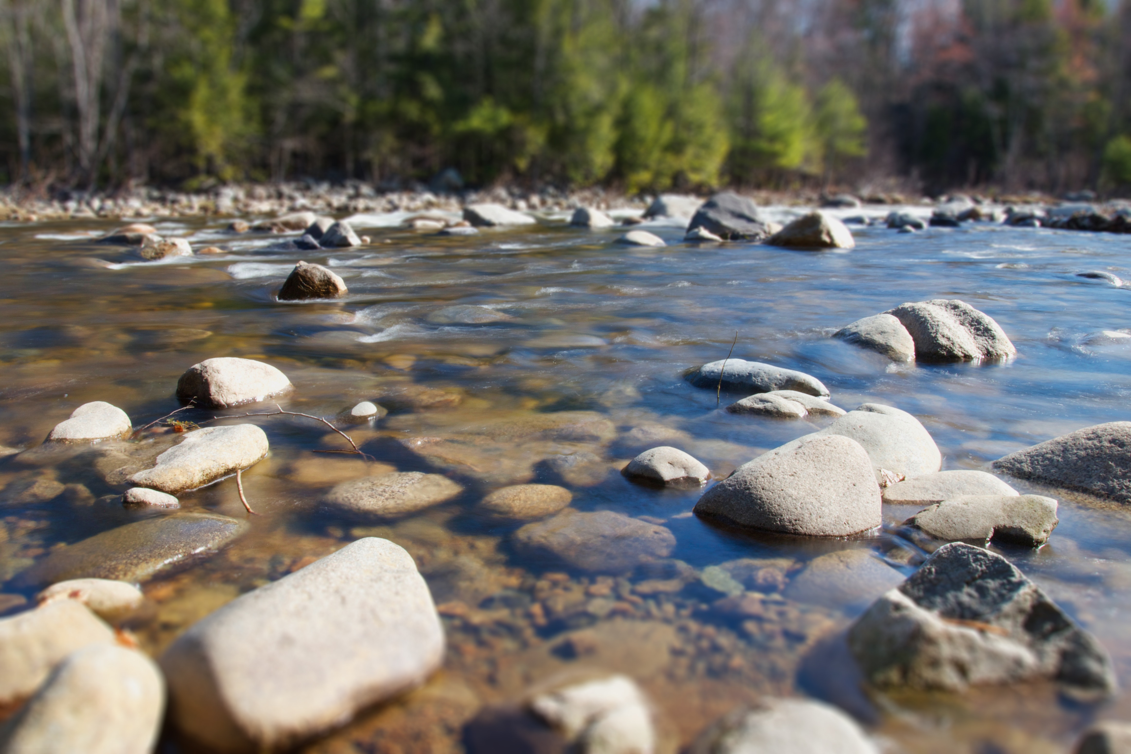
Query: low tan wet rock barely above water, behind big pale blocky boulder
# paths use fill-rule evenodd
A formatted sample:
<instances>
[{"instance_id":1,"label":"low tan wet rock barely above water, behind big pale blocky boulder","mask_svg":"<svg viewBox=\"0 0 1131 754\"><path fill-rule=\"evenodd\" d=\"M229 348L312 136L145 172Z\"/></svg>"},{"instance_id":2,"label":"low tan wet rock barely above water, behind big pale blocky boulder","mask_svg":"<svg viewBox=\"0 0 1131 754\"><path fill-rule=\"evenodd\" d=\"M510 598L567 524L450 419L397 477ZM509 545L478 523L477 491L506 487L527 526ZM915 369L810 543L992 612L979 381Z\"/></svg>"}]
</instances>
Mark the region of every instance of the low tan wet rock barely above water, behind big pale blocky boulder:
<instances>
[{"instance_id":1,"label":"low tan wet rock barely above water, behind big pale blocky boulder","mask_svg":"<svg viewBox=\"0 0 1131 754\"><path fill-rule=\"evenodd\" d=\"M343 482L326 495L326 503L355 515L392 518L439 505L464 488L439 474L394 471Z\"/></svg>"}]
</instances>

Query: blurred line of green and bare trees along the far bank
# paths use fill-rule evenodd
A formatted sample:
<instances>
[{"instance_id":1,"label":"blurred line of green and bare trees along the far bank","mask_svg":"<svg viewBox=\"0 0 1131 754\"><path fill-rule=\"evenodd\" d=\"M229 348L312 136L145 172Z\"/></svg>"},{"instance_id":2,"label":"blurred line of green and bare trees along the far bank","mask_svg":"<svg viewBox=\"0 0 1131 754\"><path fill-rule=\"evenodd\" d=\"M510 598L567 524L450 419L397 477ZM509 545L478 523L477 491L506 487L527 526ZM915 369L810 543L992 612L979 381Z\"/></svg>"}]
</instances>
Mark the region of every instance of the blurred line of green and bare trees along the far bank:
<instances>
[{"instance_id":1,"label":"blurred line of green and bare trees along the far bank","mask_svg":"<svg viewBox=\"0 0 1131 754\"><path fill-rule=\"evenodd\" d=\"M1115 190L1129 35L1131 0L0 0L0 181Z\"/></svg>"}]
</instances>

